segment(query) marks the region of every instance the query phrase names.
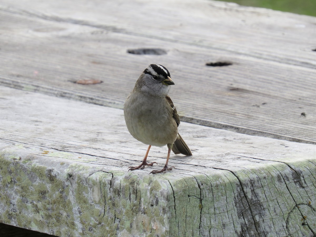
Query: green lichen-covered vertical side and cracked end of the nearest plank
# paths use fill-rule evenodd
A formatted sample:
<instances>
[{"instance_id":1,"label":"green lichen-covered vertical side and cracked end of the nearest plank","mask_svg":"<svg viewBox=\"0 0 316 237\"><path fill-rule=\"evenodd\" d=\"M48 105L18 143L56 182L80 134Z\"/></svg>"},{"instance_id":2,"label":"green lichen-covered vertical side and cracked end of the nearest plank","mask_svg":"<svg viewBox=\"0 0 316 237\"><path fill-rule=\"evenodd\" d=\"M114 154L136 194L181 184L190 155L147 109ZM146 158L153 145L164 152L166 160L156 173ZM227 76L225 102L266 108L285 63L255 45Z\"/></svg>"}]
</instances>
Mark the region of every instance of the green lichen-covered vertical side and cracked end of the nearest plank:
<instances>
[{"instance_id":1,"label":"green lichen-covered vertical side and cracked end of the nearest plank","mask_svg":"<svg viewBox=\"0 0 316 237\"><path fill-rule=\"evenodd\" d=\"M57 172L24 159L0 157L3 223L58 236L255 236L263 225L253 216L264 209L264 220L284 233L309 235L315 228L308 162L154 176L76 163Z\"/></svg>"}]
</instances>

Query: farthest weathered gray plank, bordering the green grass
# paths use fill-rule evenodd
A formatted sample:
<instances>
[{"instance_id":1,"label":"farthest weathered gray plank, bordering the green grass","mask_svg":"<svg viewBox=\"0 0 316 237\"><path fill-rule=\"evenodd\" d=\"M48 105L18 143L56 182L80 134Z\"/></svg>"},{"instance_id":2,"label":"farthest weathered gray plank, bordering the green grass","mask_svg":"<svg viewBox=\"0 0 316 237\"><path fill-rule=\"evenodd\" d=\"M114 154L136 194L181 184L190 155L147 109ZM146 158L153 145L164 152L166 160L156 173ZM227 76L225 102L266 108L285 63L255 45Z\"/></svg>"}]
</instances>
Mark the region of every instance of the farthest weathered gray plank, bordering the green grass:
<instances>
[{"instance_id":1,"label":"farthest weathered gray plank, bordering the green grass","mask_svg":"<svg viewBox=\"0 0 316 237\"><path fill-rule=\"evenodd\" d=\"M61 7L62 6L62 7ZM238 52L315 68L315 17L211 0L2 1L2 8L49 21L92 26L126 35ZM155 13L155 14L154 14Z\"/></svg>"}]
</instances>

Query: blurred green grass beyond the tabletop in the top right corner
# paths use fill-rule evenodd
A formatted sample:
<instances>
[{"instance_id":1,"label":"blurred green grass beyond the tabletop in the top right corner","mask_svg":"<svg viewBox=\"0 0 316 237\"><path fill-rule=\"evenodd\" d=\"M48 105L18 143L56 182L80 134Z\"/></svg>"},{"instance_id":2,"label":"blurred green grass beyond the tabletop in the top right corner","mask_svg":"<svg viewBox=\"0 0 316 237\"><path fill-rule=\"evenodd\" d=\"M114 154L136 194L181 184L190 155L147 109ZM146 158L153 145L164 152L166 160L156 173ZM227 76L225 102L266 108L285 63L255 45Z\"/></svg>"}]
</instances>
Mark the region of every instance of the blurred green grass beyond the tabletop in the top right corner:
<instances>
[{"instance_id":1,"label":"blurred green grass beyond the tabletop in the top right corner","mask_svg":"<svg viewBox=\"0 0 316 237\"><path fill-rule=\"evenodd\" d=\"M221 0L243 6L263 7L273 10L316 16L316 0Z\"/></svg>"}]
</instances>

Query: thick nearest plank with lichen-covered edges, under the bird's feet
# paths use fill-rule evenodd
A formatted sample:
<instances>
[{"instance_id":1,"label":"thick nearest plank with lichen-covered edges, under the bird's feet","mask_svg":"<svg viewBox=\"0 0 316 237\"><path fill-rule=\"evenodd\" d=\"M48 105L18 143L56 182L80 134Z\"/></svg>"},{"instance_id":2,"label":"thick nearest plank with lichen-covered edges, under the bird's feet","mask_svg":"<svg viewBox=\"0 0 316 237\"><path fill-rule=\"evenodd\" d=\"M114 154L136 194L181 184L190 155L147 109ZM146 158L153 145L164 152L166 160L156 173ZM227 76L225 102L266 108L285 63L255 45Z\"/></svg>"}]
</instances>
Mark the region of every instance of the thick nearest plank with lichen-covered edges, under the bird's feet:
<instances>
[{"instance_id":1,"label":"thick nearest plank with lichen-covered edges, under the bird's feet","mask_svg":"<svg viewBox=\"0 0 316 237\"><path fill-rule=\"evenodd\" d=\"M193 156L127 172L122 110L0 87L0 220L58 236L310 236L314 145L181 123ZM164 164L166 148L149 161Z\"/></svg>"}]
</instances>

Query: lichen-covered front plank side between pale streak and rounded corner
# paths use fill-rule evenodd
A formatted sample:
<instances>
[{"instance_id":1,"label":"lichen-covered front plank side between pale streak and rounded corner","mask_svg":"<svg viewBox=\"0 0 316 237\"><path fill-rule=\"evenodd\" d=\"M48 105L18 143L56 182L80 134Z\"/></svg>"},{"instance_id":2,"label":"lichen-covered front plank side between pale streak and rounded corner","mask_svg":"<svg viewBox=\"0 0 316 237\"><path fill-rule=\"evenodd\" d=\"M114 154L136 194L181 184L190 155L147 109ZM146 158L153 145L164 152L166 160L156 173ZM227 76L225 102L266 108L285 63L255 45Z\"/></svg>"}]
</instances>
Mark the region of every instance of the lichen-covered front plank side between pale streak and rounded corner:
<instances>
[{"instance_id":1,"label":"lichen-covered front plank side between pale streak and rounded corner","mask_svg":"<svg viewBox=\"0 0 316 237\"><path fill-rule=\"evenodd\" d=\"M78 209L74 212L78 214L83 235L168 235L165 228L168 212L164 209L162 213L158 206L159 200L166 197L161 198L157 180L151 177L140 180L137 175L125 172L95 172L88 177L74 172L83 169L72 165L67 171L76 181Z\"/></svg>"}]
</instances>

